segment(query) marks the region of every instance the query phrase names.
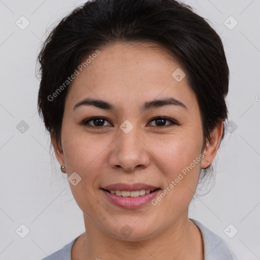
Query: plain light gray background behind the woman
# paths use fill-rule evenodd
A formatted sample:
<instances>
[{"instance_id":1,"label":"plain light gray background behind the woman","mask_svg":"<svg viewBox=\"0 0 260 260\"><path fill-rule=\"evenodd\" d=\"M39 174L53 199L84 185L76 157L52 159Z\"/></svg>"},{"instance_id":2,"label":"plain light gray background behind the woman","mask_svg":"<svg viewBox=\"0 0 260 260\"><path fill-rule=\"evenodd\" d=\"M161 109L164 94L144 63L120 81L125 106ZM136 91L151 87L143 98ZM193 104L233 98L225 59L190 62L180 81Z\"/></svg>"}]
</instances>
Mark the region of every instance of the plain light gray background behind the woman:
<instances>
[{"instance_id":1,"label":"plain light gray background behind the woman","mask_svg":"<svg viewBox=\"0 0 260 260\"><path fill-rule=\"evenodd\" d=\"M42 259L85 231L67 175L49 153L50 138L37 114L39 81L35 77L46 28L82 3L0 1L1 260ZM186 3L220 34L231 72L227 99L231 127L214 160L215 187L191 203L189 217L222 237L239 260L260 259L260 1ZM21 16L29 21L23 30L16 25ZM235 20L230 16L238 22L233 29ZM24 133L16 127L22 120L29 126ZM25 238L19 236L25 232L21 224L29 229ZM230 224L228 233L224 232ZM233 238L226 235L234 235L235 229L238 233Z\"/></svg>"}]
</instances>

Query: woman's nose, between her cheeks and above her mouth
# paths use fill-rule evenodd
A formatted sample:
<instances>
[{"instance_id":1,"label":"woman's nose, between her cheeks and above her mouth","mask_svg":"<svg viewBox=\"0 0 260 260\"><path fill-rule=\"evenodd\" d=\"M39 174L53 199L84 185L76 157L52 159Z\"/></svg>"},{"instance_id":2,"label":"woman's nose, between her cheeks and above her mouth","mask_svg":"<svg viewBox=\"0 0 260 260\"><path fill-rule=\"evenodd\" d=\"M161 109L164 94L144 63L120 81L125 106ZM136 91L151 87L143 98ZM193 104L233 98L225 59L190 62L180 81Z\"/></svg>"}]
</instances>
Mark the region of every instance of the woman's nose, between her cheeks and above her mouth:
<instances>
[{"instance_id":1,"label":"woman's nose, between her cheeks and above her mouth","mask_svg":"<svg viewBox=\"0 0 260 260\"><path fill-rule=\"evenodd\" d=\"M129 133L119 128L117 138L110 145L109 164L112 168L122 168L125 172L133 172L136 168L148 167L150 149L137 128L134 126Z\"/></svg>"}]
</instances>

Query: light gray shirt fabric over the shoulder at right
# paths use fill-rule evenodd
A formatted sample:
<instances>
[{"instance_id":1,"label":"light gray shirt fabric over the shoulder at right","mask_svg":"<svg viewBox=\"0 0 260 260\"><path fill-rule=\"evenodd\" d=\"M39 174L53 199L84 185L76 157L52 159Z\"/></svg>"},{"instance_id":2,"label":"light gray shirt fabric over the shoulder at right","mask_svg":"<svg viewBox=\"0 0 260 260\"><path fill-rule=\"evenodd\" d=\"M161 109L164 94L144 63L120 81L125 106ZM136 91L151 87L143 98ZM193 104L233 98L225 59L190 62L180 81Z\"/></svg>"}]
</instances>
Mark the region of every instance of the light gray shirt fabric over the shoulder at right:
<instances>
[{"instance_id":1,"label":"light gray shirt fabric over the shoulder at right","mask_svg":"<svg viewBox=\"0 0 260 260\"><path fill-rule=\"evenodd\" d=\"M234 252L222 238L207 229L206 226L199 221L194 219L190 220L198 226L202 233L205 260L237 260Z\"/></svg>"}]
</instances>

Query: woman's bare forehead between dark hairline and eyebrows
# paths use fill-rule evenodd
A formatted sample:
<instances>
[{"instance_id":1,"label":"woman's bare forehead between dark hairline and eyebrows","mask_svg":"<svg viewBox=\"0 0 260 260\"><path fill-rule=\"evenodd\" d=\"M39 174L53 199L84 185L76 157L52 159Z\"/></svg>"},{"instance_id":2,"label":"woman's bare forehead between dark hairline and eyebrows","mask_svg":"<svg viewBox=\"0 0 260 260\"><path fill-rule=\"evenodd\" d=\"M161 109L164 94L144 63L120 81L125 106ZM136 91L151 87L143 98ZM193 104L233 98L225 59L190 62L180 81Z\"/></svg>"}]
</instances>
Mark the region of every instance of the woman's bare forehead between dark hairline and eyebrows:
<instances>
[{"instance_id":1,"label":"woman's bare forehead between dark hairline and eyebrows","mask_svg":"<svg viewBox=\"0 0 260 260\"><path fill-rule=\"evenodd\" d=\"M70 86L66 103L71 108L89 97L107 100L115 107L118 104L121 109L124 104L133 106L171 96L188 109L196 105L186 77L176 80L176 70L181 73L183 70L163 47L154 43L115 43L99 51L98 55L90 53L83 59L84 62L91 57Z\"/></svg>"}]
</instances>

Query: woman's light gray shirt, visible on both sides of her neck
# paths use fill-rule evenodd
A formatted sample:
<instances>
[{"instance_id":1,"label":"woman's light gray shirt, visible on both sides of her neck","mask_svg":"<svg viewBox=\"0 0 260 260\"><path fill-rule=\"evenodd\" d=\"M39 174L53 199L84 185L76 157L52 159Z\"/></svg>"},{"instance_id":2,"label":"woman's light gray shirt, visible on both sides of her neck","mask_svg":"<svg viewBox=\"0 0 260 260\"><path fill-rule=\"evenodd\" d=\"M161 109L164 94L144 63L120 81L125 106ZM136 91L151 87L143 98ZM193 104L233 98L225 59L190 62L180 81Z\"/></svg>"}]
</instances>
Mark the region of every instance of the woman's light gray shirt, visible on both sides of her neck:
<instances>
[{"instance_id":1,"label":"woman's light gray shirt, visible on both sides of her neck","mask_svg":"<svg viewBox=\"0 0 260 260\"><path fill-rule=\"evenodd\" d=\"M198 226L202 233L204 243L204 260L237 260L234 252L229 249L228 244L226 244L222 238L207 229L206 226L199 221L194 219L190 220ZM42 260L71 260L71 248L77 238Z\"/></svg>"}]
</instances>

